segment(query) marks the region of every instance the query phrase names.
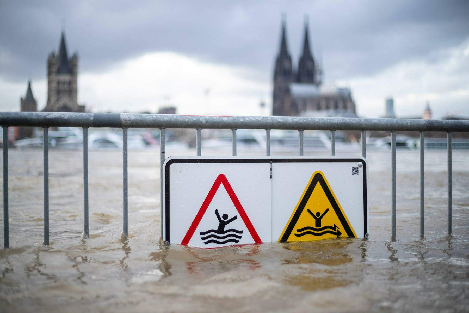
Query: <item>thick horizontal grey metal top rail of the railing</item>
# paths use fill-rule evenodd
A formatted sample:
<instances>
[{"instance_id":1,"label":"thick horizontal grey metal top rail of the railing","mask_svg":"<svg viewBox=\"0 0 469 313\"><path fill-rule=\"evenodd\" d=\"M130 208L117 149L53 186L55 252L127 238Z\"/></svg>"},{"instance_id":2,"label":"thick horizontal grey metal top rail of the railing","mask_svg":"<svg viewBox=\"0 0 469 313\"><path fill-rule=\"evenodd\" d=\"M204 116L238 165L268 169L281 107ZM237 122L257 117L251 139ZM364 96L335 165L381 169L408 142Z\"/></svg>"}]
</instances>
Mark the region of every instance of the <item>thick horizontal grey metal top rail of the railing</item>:
<instances>
[{"instance_id":1,"label":"thick horizontal grey metal top rail of the railing","mask_svg":"<svg viewBox=\"0 0 469 313\"><path fill-rule=\"evenodd\" d=\"M469 131L469 121L383 118L1 112L2 126Z\"/></svg>"}]
</instances>

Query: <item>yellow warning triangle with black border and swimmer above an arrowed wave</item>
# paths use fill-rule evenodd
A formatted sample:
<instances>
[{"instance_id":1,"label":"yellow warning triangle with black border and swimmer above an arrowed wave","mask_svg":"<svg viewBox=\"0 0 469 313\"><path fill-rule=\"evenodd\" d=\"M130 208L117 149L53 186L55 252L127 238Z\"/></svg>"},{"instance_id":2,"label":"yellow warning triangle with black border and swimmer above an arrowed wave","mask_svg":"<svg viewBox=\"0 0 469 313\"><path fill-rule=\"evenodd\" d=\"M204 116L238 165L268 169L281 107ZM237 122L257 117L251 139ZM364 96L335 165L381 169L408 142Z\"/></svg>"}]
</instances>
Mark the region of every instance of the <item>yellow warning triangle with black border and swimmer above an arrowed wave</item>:
<instances>
[{"instance_id":1,"label":"yellow warning triangle with black border and swimmer above an arrowed wave","mask_svg":"<svg viewBox=\"0 0 469 313\"><path fill-rule=\"evenodd\" d=\"M311 176L279 241L314 241L356 237L347 216L322 172Z\"/></svg>"}]
</instances>

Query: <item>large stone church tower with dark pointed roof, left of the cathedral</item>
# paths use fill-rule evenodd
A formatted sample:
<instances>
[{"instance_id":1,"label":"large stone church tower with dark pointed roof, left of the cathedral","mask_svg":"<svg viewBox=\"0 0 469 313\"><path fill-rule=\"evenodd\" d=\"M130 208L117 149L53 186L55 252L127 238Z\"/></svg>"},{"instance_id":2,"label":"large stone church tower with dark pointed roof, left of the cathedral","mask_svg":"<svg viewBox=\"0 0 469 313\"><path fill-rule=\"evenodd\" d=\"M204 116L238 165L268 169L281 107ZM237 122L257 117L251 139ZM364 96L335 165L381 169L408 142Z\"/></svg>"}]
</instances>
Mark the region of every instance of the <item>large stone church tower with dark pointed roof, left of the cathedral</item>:
<instances>
[{"instance_id":1,"label":"large stone church tower with dark pointed roof, left of the cathedral","mask_svg":"<svg viewBox=\"0 0 469 313\"><path fill-rule=\"evenodd\" d=\"M84 112L84 106L77 103L78 56L70 58L62 31L59 53L47 58L47 112Z\"/></svg>"}]
</instances>

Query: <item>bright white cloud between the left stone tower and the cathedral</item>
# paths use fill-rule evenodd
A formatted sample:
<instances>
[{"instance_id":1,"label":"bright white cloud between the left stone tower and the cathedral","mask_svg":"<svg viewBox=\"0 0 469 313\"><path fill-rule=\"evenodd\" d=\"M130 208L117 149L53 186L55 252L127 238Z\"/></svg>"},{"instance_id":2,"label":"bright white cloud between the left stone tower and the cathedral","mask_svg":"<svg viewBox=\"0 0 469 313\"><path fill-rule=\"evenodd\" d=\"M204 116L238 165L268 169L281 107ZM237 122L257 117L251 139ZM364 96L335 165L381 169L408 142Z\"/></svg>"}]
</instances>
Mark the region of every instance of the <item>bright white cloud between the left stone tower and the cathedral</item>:
<instances>
[{"instance_id":1,"label":"bright white cloud between the left stone tower and the cathedral","mask_svg":"<svg viewBox=\"0 0 469 313\"><path fill-rule=\"evenodd\" d=\"M270 86L249 74L178 53L148 53L106 73L82 74L79 102L94 112L156 112L172 105L180 114L259 115Z\"/></svg>"}]
</instances>

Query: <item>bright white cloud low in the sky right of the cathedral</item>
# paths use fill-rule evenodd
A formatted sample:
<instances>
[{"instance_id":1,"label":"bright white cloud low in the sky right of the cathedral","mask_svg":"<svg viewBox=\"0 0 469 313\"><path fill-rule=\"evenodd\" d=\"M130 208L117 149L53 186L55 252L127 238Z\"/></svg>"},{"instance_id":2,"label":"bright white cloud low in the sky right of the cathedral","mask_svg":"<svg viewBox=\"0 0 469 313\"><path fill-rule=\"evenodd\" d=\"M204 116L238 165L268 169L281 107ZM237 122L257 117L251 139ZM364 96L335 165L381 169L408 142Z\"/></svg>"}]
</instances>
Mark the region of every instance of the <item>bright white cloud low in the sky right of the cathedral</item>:
<instances>
[{"instance_id":1,"label":"bright white cloud low in the sky right of the cathedral","mask_svg":"<svg viewBox=\"0 0 469 313\"><path fill-rule=\"evenodd\" d=\"M364 117L384 115L384 101L394 98L398 117L422 115L430 101L433 118L469 115L469 40L438 53L437 61L400 62L373 76L347 80ZM342 81L342 83L346 80Z\"/></svg>"}]
</instances>

